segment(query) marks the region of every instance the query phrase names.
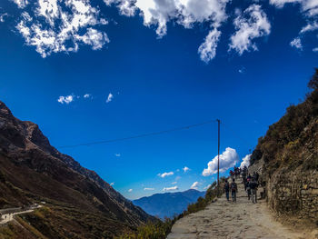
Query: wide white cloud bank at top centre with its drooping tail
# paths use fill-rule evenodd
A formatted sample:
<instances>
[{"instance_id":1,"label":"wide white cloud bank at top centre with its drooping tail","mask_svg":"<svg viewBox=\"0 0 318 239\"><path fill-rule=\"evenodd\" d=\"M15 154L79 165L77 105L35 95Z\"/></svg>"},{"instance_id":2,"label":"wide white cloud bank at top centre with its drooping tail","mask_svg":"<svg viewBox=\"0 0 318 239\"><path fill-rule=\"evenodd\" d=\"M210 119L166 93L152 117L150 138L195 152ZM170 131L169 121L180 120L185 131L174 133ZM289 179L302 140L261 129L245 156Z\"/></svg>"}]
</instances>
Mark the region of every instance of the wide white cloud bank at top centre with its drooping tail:
<instances>
[{"instance_id":1,"label":"wide white cloud bank at top centre with its drooping tail","mask_svg":"<svg viewBox=\"0 0 318 239\"><path fill-rule=\"evenodd\" d=\"M221 32L217 28L227 19L225 7L229 0L104 0L106 5L117 5L122 15L140 13L144 25L155 26L158 37L167 33L167 23L192 28L195 24L208 23L213 30L205 37L198 53L204 62L215 56ZM136 11L139 10L139 11Z\"/></svg>"}]
</instances>

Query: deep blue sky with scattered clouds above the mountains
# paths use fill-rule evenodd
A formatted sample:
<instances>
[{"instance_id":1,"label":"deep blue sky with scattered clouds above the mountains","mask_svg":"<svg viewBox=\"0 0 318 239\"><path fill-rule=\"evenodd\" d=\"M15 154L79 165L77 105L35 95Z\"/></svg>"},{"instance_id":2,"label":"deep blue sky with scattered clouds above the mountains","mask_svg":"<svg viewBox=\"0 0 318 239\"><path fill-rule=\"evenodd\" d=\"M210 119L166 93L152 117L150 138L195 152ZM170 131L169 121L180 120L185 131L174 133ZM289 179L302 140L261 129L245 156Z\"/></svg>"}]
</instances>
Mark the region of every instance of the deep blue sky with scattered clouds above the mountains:
<instances>
[{"instance_id":1,"label":"deep blue sky with scattered clouds above the mountains","mask_svg":"<svg viewBox=\"0 0 318 239\"><path fill-rule=\"evenodd\" d=\"M316 1L5 0L0 7L0 100L130 199L211 184L216 122L62 146L220 118L226 174L303 99L317 66Z\"/></svg>"}]
</instances>

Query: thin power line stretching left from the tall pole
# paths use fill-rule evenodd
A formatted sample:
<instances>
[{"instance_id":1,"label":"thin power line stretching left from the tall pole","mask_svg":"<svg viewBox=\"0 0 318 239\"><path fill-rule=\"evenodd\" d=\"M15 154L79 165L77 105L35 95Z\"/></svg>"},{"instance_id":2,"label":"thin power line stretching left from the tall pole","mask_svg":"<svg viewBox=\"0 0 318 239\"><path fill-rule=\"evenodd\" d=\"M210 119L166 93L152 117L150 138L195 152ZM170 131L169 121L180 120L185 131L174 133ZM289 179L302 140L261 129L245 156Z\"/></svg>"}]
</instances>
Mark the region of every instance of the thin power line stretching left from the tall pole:
<instances>
[{"instance_id":1,"label":"thin power line stretching left from the tall pole","mask_svg":"<svg viewBox=\"0 0 318 239\"><path fill-rule=\"evenodd\" d=\"M173 128L173 129L163 130L163 131L158 131L158 132L152 132L152 133L147 133L147 134L137 134L137 135L134 135L134 136L124 137L124 138L116 138L116 139L103 140L103 141L95 141L95 142L84 143L84 144L64 145L64 146L59 146L58 148L74 148L74 147L79 147L79 146L90 146L90 145L94 145L94 144L110 144L110 143L114 143L114 142L130 140L130 139L143 138L143 137L149 137L149 136L153 136L153 135L168 134L168 133L172 133L172 132L175 132L175 131L187 130L187 129L190 129L190 128L202 126L204 124L212 124L214 122L216 122L216 120L209 120L209 121L206 121L204 123L190 124L190 125L183 126L183 127L178 127L178 128Z\"/></svg>"}]
</instances>

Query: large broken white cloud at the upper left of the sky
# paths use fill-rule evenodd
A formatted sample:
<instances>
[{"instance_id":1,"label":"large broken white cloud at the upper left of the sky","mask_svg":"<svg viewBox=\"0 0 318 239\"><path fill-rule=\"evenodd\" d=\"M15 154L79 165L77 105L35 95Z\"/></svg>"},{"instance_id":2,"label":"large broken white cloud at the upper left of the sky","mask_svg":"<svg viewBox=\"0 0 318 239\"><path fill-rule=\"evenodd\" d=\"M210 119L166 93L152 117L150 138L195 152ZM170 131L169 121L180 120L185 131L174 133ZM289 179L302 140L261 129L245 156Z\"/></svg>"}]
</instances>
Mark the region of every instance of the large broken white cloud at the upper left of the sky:
<instances>
[{"instance_id":1,"label":"large broken white cloud at the upper left of the sky","mask_svg":"<svg viewBox=\"0 0 318 239\"><path fill-rule=\"evenodd\" d=\"M98 50L109 43L104 32L92 27L106 24L99 15L89 0L37 0L21 15L16 29L42 57L76 52L80 44Z\"/></svg>"}]
</instances>

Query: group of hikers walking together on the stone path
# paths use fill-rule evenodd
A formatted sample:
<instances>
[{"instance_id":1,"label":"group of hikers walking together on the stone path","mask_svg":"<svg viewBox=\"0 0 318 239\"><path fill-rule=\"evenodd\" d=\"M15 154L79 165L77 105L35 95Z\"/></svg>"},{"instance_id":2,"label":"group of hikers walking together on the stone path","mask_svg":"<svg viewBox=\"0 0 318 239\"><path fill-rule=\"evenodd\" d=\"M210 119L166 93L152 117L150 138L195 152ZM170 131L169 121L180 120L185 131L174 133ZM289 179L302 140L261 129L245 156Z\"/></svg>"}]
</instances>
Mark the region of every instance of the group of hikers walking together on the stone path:
<instances>
[{"instance_id":1,"label":"group of hikers walking together on the stone path","mask_svg":"<svg viewBox=\"0 0 318 239\"><path fill-rule=\"evenodd\" d=\"M253 175L248 173L246 165L243 168L238 168L234 166L234 170L230 171L230 176L232 178L232 183L230 184L228 180L225 180L224 184L224 193L226 195L227 201L230 201L230 191L232 194L232 202L236 203L236 194L237 194L237 184L235 179L242 176L242 183L244 185L244 190L247 193L248 200L252 199L252 203L257 203L257 189L258 189L258 180L259 174L254 172Z\"/></svg>"}]
</instances>

